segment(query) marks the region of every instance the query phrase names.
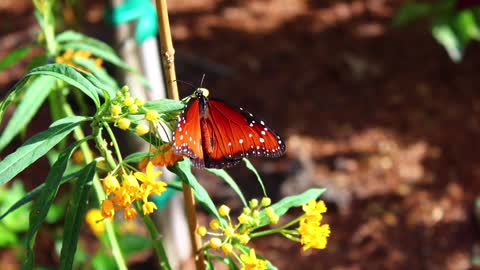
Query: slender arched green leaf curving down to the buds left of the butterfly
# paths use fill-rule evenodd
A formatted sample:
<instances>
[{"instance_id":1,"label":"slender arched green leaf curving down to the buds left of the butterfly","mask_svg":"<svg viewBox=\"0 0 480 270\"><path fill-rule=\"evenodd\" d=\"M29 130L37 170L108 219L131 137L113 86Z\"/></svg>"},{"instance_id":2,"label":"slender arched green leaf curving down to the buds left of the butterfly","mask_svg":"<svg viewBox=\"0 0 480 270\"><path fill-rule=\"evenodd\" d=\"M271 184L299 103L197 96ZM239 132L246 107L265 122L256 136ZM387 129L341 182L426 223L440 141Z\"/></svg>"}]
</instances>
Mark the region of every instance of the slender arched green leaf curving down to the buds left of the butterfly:
<instances>
[{"instance_id":1,"label":"slender arched green leaf curving down to the buds left of the butterfly","mask_svg":"<svg viewBox=\"0 0 480 270\"><path fill-rule=\"evenodd\" d=\"M32 69L25 77L33 75L48 75L60 79L82 91L90 97L95 105L100 107L98 93L101 92L91 81L85 78L81 72L75 68L64 64L49 64Z\"/></svg>"}]
</instances>

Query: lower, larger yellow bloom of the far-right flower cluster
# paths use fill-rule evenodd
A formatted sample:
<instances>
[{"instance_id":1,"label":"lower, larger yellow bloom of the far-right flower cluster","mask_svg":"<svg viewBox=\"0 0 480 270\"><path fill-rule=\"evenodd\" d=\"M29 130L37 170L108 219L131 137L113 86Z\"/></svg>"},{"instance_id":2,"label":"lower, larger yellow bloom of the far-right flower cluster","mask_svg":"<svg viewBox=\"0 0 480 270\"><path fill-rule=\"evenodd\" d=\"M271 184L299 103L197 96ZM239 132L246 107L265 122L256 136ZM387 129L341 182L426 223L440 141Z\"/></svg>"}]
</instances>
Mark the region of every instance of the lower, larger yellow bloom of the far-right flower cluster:
<instances>
[{"instance_id":1,"label":"lower, larger yellow bloom of the far-right flower cluster","mask_svg":"<svg viewBox=\"0 0 480 270\"><path fill-rule=\"evenodd\" d=\"M320 226L317 222L312 223L307 219L301 219L298 232L301 236L300 242L303 245L303 250L327 247L327 238L330 236L330 226L328 224Z\"/></svg>"}]
</instances>

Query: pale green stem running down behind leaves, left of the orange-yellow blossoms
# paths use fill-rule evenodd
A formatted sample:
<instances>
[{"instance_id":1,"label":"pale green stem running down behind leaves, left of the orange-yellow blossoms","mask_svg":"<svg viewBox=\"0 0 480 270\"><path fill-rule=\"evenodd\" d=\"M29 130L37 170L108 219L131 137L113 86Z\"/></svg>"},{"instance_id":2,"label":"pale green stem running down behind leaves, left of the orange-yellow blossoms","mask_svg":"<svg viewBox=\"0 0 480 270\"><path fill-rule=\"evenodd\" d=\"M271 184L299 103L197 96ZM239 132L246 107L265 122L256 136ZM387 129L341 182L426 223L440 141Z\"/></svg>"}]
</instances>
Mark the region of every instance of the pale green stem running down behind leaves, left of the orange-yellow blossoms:
<instances>
[{"instance_id":1,"label":"pale green stem running down behind leaves, left of the orange-yellow blossoms","mask_svg":"<svg viewBox=\"0 0 480 270\"><path fill-rule=\"evenodd\" d=\"M74 115L72 108L66 102L63 102L63 111L67 116ZM77 141L79 141L85 137L85 134L83 133L83 130L81 127L77 127L73 130L73 136ZM85 158L85 164L88 164L93 161L92 150L90 150L90 147L88 146L88 144L86 143L80 144L80 151L82 151L82 154ZM102 187L102 184L100 183L100 179L97 173L95 173L93 177L93 188L97 195L96 197L97 197L98 203L101 204L102 199L105 198L106 196L105 196L105 192L103 191L103 187ZM117 264L118 269L127 270L127 264L125 262L125 259L123 258L122 251L120 250L120 245L118 244L118 240L117 240L117 236L115 235L113 224L110 220L107 220L107 219L105 219L104 222L105 222L105 229L107 231L108 240L112 248L112 254L113 254L115 263Z\"/></svg>"}]
</instances>

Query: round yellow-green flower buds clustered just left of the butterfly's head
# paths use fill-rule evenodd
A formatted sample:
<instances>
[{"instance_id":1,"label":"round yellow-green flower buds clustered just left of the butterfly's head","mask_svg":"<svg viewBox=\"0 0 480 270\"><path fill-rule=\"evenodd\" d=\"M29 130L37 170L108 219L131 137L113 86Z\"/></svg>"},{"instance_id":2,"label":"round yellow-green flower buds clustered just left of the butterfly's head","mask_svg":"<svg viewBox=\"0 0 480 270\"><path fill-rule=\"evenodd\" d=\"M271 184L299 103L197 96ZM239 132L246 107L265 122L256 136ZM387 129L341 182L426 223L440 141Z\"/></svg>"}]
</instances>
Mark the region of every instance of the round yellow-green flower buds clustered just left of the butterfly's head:
<instances>
[{"instance_id":1,"label":"round yellow-green flower buds clustered just left of the butterfly's head","mask_svg":"<svg viewBox=\"0 0 480 270\"><path fill-rule=\"evenodd\" d=\"M128 86L124 86L111 101L110 119L115 122L118 128L129 130L132 120L128 118L128 115L138 114L139 112L144 114L144 119L134 121L138 122L134 128L135 133L143 136L150 131L150 126L156 128L160 120L160 115L157 111L148 110L143 105L143 100L131 97ZM146 120L146 123L142 120Z\"/></svg>"}]
</instances>

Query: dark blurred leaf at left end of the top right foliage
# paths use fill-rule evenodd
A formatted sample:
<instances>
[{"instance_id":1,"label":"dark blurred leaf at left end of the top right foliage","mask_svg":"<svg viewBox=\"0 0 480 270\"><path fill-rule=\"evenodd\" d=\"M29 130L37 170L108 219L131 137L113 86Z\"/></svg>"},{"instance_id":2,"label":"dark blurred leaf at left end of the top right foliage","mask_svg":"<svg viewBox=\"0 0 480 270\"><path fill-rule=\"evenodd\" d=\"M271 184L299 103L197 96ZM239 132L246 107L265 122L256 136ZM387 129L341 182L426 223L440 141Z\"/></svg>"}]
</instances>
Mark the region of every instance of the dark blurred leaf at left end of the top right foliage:
<instances>
[{"instance_id":1,"label":"dark blurred leaf at left end of the top right foliage","mask_svg":"<svg viewBox=\"0 0 480 270\"><path fill-rule=\"evenodd\" d=\"M394 26L405 26L432 14L432 4L411 2L403 4L393 17Z\"/></svg>"}]
</instances>

